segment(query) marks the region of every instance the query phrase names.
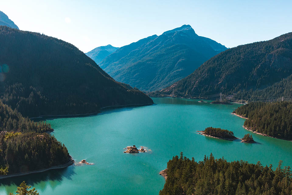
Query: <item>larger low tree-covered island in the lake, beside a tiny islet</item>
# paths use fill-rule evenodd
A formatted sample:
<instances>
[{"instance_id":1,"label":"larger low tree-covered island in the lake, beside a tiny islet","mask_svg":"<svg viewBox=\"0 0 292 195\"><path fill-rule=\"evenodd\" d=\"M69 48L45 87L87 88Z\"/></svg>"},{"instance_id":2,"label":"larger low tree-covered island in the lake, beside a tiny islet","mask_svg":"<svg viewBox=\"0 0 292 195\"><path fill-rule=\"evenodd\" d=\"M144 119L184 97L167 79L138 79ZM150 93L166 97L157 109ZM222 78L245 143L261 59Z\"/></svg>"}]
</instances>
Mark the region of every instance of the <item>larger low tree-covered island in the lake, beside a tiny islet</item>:
<instances>
[{"instance_id":1,"label":"larger low tree-covered island in the lake, beside a tiny islet","mask_svg":"<svg viewBox=\"0 0 292 195\"><path fill-rule=\"evenodd\" d=\"M204 131L197 131L201 135L215 137L223 140L237 140L238 138L234 136L232 131L226 129L207 127Z\"/></svg>"}]
</instances>

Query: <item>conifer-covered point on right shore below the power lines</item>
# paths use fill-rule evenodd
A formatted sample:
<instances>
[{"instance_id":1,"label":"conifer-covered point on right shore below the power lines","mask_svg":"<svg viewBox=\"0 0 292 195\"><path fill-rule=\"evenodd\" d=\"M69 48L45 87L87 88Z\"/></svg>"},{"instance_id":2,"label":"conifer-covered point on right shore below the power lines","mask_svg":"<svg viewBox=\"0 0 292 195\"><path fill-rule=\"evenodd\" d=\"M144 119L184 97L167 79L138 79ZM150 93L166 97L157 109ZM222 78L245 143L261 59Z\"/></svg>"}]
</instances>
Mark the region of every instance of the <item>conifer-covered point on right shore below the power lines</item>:
<instances>
[{"instance_id":1,"label":"conifer-covered point on right shore below the power lines","mask_svg":"<svg viewBox=\"0 0 292 195\"><path fill-rule=\"evenodd\" d=\"M248 118L244 122L248 129L292 140L292 102L249 103L234 112Z\"/></svg>"}]
</instances>

